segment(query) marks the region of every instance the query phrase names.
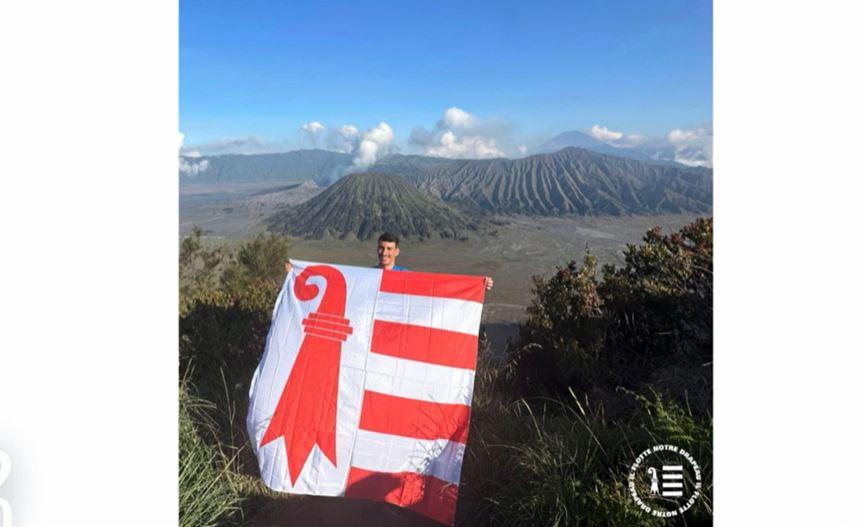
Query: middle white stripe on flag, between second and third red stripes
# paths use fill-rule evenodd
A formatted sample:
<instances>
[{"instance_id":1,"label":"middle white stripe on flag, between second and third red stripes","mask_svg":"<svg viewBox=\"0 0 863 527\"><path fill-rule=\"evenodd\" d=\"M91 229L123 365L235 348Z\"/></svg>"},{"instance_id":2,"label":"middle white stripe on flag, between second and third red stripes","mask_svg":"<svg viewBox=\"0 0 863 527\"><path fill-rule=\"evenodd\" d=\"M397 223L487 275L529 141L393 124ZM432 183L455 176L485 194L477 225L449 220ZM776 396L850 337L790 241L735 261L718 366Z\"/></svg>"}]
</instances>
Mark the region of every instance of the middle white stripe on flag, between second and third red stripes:
<instances>
[{"instance_id":1,"label":"middle white stripe on flag, between second and third red stripes","mask_svg":"<svg viewBox=\"0 0 863 527\"><path fill-rule=\"evenodd\" d=\"M434 403L470 406L473 370L369 353L365 389Z\"/></svg>"}]
</instances>

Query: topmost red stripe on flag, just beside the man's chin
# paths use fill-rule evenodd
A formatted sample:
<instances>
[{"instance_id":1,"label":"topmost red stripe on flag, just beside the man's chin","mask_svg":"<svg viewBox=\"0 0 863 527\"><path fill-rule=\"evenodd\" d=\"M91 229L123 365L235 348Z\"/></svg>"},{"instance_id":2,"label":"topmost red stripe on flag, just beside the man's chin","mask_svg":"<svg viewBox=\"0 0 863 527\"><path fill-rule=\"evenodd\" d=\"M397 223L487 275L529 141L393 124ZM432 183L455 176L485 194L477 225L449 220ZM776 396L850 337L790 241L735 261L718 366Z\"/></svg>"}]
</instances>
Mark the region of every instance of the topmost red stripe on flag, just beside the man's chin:
<instances>
[{"instance_id":1,"label":"topmost red stripe on flag, just beside the man's chin","mask_svg":"<svg viewBox=\"0 0 863 527\"><path fill-rule=\"evenodd\" d=\"M381 278L381 291L402 295L456 298L482 303L485 298L485 282L480 276L415 273L413 271L384 269Z\"/></svg>"}]
</instances>

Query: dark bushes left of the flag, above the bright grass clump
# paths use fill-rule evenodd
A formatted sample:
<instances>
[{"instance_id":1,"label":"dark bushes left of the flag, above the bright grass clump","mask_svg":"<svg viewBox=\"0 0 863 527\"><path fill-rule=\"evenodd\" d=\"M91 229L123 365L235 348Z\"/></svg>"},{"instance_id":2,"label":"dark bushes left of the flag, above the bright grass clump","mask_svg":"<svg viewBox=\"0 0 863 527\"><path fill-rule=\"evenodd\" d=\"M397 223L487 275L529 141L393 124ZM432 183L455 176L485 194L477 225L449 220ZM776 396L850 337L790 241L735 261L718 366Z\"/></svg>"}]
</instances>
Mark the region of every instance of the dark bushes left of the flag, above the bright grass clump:
<instances>
[{"instance_id":1,"label":"dark bushes left of the flag, above the bright grass clump","mask_svg":"<svg viewBox=\"0 0 863 527\"><path fill-rule=\"evenodd\" d=\"M190 238L184 244L191 258L211 254L199 243L199 233ZM209 444L230 454L232 474L248 474L257 470L244 424L249 383L284 278L287 243L261 235L217 254L218 262L202 282L207 286L181 290L180 373L198 397L218 409L209 416Z\"/></svg>"}]
</instances>

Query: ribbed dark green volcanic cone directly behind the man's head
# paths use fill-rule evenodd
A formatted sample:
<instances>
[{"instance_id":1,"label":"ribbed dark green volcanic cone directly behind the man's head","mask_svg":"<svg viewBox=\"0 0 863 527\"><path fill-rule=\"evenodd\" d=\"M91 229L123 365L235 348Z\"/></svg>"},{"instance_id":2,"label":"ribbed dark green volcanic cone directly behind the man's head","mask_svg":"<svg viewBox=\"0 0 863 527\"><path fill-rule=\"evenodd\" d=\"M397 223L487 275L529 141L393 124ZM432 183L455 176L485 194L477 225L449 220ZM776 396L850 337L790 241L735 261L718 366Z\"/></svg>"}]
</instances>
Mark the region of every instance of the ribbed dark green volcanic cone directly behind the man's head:
<instances>
[{"instance_id":1,"label":"ribbed dark green volcanic cone directly behind the man's head","mask_svg":"<svg viewBox=\"0 0 863 527\"><path fill-rule=\"evenodd\" d=\"M468 216L391 174L351 174L314 198L278 212L270 230L306 238L355 236L384 231L405 238L460 238L477 230Z\"/></svg>"}]
</instances>

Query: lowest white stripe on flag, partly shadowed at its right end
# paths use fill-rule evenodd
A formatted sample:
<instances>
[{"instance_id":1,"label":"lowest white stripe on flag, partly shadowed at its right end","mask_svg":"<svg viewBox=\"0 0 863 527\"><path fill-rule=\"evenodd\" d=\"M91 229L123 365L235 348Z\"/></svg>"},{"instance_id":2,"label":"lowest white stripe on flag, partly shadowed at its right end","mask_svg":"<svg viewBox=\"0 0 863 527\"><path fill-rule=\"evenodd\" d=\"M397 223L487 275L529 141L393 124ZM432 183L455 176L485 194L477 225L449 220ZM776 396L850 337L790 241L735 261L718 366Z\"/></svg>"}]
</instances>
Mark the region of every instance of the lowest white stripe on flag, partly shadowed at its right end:
<instances>
[{"instance_id":1,"label":"lowest white stripe on flag, partly shadowed at its right end","mask_svg":"<svg viewBox=\"0 0 863 527\"><path fill-rule=\"evenodd\" d=\"M464 445L357 430L351 466L376 472L414 472L458 485Z\"/></svg>"}]
</instances>

